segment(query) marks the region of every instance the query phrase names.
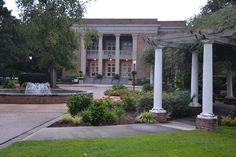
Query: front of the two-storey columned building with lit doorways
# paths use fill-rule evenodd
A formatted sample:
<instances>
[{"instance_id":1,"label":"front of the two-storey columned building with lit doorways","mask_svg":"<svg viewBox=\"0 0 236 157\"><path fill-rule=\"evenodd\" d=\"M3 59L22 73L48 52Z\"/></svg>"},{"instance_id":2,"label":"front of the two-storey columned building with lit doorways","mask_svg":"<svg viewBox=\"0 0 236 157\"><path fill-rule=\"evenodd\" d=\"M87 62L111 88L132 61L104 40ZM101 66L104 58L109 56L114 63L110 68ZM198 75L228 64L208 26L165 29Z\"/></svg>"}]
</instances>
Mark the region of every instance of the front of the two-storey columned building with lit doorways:
<instances>
[{"instance_id":1,"label":"front of the two-storey columned building with lit doorways","mask_svg":"<svg viewBox=\"0 0 236 157\"><path fill-rule=\"evenodd\" d=\"M80 36L77 51L78 66L86 77L101 74L110 78L119 74L128 78L135 69L138 78L149 78L150 68L143 60L147 46L146 36L183 31L185 21L158 21L157 19L84 19L72 27ZM84 46L86 29L99 32L99 40L90 49Z\"/></svg>"}]
</instances>

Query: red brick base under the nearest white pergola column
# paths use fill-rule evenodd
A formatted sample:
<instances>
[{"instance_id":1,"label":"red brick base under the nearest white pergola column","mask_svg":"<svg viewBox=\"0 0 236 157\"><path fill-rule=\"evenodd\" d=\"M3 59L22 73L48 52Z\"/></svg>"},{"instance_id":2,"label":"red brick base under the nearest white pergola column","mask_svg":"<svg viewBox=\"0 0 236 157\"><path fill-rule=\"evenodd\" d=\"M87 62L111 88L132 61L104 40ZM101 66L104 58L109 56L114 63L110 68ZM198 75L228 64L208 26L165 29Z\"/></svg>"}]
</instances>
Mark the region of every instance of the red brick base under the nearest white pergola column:
<instances>
[{"instance_id":1,"label":"red brick base under the nearest white pergola column","mask_svg":"<svg viewBox=\"0 0 236 157\"><path fill-rule=\"evenodd\" d=\"M200 130L216 130L218 128L217 116L198 115L196 119L196 128Z\"/></svg>"}]
</instances>

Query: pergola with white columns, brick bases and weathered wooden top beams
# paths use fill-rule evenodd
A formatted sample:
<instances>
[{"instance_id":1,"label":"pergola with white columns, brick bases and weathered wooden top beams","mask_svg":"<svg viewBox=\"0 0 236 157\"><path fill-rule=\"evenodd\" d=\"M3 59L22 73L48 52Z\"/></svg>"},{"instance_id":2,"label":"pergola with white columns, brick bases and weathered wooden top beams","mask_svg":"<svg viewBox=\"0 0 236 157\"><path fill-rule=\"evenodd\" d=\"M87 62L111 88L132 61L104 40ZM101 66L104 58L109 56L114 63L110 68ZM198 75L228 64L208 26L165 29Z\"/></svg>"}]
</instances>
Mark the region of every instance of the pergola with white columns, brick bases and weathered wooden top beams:
<instances>
[{"instance_id":1,"label":"pergola with white columns, brick bases and weathered wooden top beams","mask_svg":"<svg viewBox=\"0 0 236 157\"><path fill-rule=\"evenodd\" d=\"M230 46L236 55L236 30L227 27L218 30L198 32L180 32L174 34L145 37L144 40L155 47L154 66L154 104L150 112L157 114L159 122L165 122L166 111L162 108L162 49L164 47L182 48L196 42L203 43L203 89L202 106L198 102L198 54L192 52L191 71L191 107L202 107L197 116L198 129L214 130L217 128L217 116L213 113L213 48L215 45ZM216 46L215 46L216 47ZM227 97L233 97L232 72L227 70Z\"/></svg>"}]
</instances>

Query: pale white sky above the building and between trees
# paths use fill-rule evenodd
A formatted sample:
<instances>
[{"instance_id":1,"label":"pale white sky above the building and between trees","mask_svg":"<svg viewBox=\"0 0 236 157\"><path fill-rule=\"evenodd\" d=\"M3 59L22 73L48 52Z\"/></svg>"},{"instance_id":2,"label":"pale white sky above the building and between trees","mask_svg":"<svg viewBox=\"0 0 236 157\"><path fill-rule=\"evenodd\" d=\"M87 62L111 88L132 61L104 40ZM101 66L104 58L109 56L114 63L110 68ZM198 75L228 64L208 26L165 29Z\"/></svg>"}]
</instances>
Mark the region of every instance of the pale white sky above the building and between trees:
<instances>
[{"instance_id":1,"label":"pale white sky above the building and between trees","mask_svg":"<svg viewBox=\"0 0 236 157\"><path fill-rule=\"evenodd\" d=\"M5 0L17 15L15 0ZM198 14L207 0L93 0L85 18L155 18L160 21L187 20Z\"/></svg>"}]
</instances>

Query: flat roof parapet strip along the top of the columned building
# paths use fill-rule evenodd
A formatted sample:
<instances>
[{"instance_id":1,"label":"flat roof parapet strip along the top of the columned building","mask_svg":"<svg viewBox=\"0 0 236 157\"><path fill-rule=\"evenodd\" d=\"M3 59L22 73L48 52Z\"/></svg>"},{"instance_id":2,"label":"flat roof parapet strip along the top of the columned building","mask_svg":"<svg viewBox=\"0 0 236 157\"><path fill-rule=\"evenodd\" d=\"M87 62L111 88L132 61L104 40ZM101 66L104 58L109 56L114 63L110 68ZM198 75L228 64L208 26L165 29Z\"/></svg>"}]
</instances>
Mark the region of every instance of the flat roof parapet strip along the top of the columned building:
<instances>
[{"instance_id":1,"label":"flat roof parapet strip along the top of the columned building","mask_svg":"<svg viewBox=\"0 0 236 157\"><path fill-rule=\"evenodd\" d=\"M185 26L185 21L158 21L157 19L83 19L83 24L157 24L161 26Z\"/></svg>"}]
</instances>

